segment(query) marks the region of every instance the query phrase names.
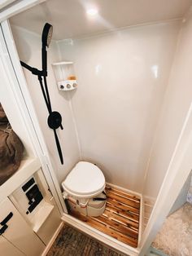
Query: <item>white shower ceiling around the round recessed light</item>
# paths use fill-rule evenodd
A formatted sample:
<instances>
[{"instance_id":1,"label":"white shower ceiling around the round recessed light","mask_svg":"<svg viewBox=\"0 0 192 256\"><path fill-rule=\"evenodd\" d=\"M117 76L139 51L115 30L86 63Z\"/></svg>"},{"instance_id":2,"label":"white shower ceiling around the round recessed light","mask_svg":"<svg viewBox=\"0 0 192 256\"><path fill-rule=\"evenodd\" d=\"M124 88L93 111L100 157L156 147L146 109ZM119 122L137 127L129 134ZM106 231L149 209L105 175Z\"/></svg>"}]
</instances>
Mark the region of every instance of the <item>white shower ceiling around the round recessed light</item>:
<instances>
[{"instance_id":1,"label":"white shower ceiling around the round recessed light","mask_svg":"<svg viewBox=\"0 0 192 256\"><path fill-rule=\"evenodd\" d=\"M45 22L54 39L78 38L129 25L181 18L191 0L48 0L11 18L11 24L41 34ZM86 9L98 8L88 17Z\"/></svg>"}]
</instances>

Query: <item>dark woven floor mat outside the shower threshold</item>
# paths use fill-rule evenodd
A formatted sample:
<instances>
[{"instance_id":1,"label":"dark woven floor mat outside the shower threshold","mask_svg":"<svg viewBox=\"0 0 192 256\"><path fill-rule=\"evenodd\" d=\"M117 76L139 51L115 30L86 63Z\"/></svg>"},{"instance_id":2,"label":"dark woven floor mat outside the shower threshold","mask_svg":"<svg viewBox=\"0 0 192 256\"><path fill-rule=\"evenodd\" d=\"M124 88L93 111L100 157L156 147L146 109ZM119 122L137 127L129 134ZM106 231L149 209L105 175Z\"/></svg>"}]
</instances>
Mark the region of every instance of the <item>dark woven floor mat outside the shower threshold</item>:
<instances>
[{"instance_id":1,"label":"dark woven floor mat outside the shower threshold","mask_svg":"<svg viewBox=\"0 0 192 256\"><path fill-rule=\"evenodd\" d=\"M47 256L124 256L94 238L65 225Z\"/></svg>"}]
</instances>

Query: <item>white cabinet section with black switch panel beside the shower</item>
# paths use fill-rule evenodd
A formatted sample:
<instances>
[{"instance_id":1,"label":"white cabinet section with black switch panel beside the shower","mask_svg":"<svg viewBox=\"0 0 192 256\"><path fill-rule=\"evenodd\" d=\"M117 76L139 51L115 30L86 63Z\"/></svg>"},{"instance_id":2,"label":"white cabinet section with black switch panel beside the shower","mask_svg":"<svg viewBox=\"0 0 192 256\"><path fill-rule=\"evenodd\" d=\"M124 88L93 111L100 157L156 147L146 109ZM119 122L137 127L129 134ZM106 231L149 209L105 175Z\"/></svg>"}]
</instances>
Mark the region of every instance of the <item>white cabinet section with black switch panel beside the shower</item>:
<instances>
[{"instance_id":1,"label":"white cabinet section with black switch panel beside the shower","mask_svg":"<svg viewBox=\"0 0 192 256\"><path fill-rule=\"evenodd\" d=\"M37 188L42 196L41 201L37 202L33 210L29 210L38 200ZM32 176L29 176L24 183L21 183L20 186L11 193L9 199L26 220L33 232L40 237L45 245L48 245L61 223L61 218L55 203L55 198L50 192L41 168ZM33 204L31 204L32 201Z\"/></svg>"}]
</instances>

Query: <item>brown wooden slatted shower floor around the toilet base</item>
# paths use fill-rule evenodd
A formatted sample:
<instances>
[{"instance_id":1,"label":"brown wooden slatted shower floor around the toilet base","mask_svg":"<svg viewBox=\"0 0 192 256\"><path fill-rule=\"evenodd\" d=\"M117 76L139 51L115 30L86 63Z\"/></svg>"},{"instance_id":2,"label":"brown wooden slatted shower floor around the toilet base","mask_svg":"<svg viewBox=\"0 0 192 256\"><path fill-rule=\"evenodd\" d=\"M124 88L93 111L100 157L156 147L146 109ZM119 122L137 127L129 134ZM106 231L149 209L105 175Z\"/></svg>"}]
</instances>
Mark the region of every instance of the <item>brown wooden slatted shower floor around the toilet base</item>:
<instances>
[{"instance_id":1,"label":"brown wooden slatted shower floor around the toilet base","mask_svg":"<svg viewBox=\"0 0 192 256\"><path fill-rule=\"evenodd\" d=\"M73 211L72 216L118 241L137 247L140 199L109 187L106 193L106 210L102 215L88 217Z\"/></svg>"}]
</instances>

